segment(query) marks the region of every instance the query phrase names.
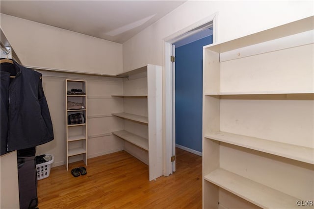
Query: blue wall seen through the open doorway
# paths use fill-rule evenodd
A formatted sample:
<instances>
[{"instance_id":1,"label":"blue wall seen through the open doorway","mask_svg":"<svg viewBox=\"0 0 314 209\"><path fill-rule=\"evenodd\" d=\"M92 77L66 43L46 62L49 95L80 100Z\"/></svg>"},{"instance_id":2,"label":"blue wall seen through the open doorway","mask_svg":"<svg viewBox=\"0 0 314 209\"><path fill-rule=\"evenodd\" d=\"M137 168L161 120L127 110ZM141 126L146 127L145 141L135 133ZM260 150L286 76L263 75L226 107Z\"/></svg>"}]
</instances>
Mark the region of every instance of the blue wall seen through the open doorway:
<instances>
[{"instance_id":1,"label":"blue wall seen through the open doorway","mask_svg":"<svg viewBox=\"0 0 314 209\"><path fill-rule=\"evenodd\" d=\"M176 144L202 152L203 46L212 36L176 48Z\"/></svg>"}]
</instances>

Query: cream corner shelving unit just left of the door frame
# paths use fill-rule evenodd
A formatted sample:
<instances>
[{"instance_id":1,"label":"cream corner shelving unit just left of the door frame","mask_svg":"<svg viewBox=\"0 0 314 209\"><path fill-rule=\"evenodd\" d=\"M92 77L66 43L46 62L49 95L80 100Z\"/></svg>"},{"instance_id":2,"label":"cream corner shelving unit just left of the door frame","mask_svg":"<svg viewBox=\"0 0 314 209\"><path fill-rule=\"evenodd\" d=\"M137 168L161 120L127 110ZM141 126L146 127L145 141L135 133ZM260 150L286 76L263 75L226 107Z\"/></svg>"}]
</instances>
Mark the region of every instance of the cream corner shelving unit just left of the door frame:
<instances>
[{"instance_id":1,"label":"cream corner shelving unit just left of the door frame","mask_svg":"<svg viewBox=\"0 0 314 209\"><path fill-rule=\"evenodd\" d=\"M124 150L149 166L149 181L163 174L162 159L162 69L147 65L119 74L124 94L124 112L112 113L124 120L124 129L112 132L124 139Z\"/></svg>"}]
</instances>

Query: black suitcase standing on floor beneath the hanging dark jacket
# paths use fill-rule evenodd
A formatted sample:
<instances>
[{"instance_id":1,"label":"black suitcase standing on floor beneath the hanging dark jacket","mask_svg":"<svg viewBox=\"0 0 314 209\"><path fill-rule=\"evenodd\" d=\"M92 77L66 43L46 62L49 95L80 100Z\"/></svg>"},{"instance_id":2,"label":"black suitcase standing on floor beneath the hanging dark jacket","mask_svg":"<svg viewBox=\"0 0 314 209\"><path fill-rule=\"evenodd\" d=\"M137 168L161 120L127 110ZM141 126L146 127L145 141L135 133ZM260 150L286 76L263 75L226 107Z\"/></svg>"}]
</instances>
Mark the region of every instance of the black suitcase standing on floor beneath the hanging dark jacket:
<instances>
[{"instance_id":1,"label":"black suitcase standing on floor beneath the hanging dark jacket","mask_svg":"<svg viewBox=\"0 0 314 209\"><path fill-rule=\"evenodd\" d=\"M36 209L37 173L35 156L18 157L20 209Z\"/></svg>"}]
</instances>

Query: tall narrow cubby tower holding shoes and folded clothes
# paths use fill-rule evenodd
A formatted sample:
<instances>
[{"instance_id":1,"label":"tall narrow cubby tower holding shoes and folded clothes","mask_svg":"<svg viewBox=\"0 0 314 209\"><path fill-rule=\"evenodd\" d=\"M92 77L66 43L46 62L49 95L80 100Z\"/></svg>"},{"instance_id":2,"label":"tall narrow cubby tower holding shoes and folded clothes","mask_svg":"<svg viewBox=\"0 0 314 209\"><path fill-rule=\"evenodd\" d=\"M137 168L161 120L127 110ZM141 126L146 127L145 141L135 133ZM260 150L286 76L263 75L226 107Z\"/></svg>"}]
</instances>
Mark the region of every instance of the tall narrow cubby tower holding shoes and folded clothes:
<instances>
[{"instance_id":1,"label":"tall narrow cubby tower holding shoes and folded clothes","mask_svg":"<svg viewBox=\"0 0 314 209\"><path fill-rule=\"evenodd\" d=\"M80 89L84 94L68 94L71 89ZM65 111L66 111L66 159L65 165L69 170L69 163L83 160L87 165L87 99L86 81L65 80ZM81 109L70 109L68 102L82 103ZM78 124L69 124L68 116L71 114L82 114L84 121Z\"/></svg>"}]
</instances>

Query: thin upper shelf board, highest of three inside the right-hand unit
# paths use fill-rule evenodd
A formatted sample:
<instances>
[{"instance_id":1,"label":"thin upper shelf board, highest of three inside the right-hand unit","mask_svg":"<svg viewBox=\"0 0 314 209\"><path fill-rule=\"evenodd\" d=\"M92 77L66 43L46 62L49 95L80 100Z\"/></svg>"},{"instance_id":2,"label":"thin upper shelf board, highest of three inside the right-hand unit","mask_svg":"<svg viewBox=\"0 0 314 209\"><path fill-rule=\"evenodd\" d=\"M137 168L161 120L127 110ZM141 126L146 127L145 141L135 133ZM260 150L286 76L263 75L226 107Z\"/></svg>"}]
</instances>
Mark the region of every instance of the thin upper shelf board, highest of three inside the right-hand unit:
<instances>
[{"instance_id":1,"label":"thin upper shelf board, highest of three inside the right-hand unit","mask_svg":"<svg viewBox=\"0 0 314 209\"><path fill-rule=\"evenodd\" d=\"M308 94L313 91L293 92L293 91L261 91L261 92L220 92L220 93L205 93L205 95L259 95L259 94Z\"/></svg>"}]
</instances>

